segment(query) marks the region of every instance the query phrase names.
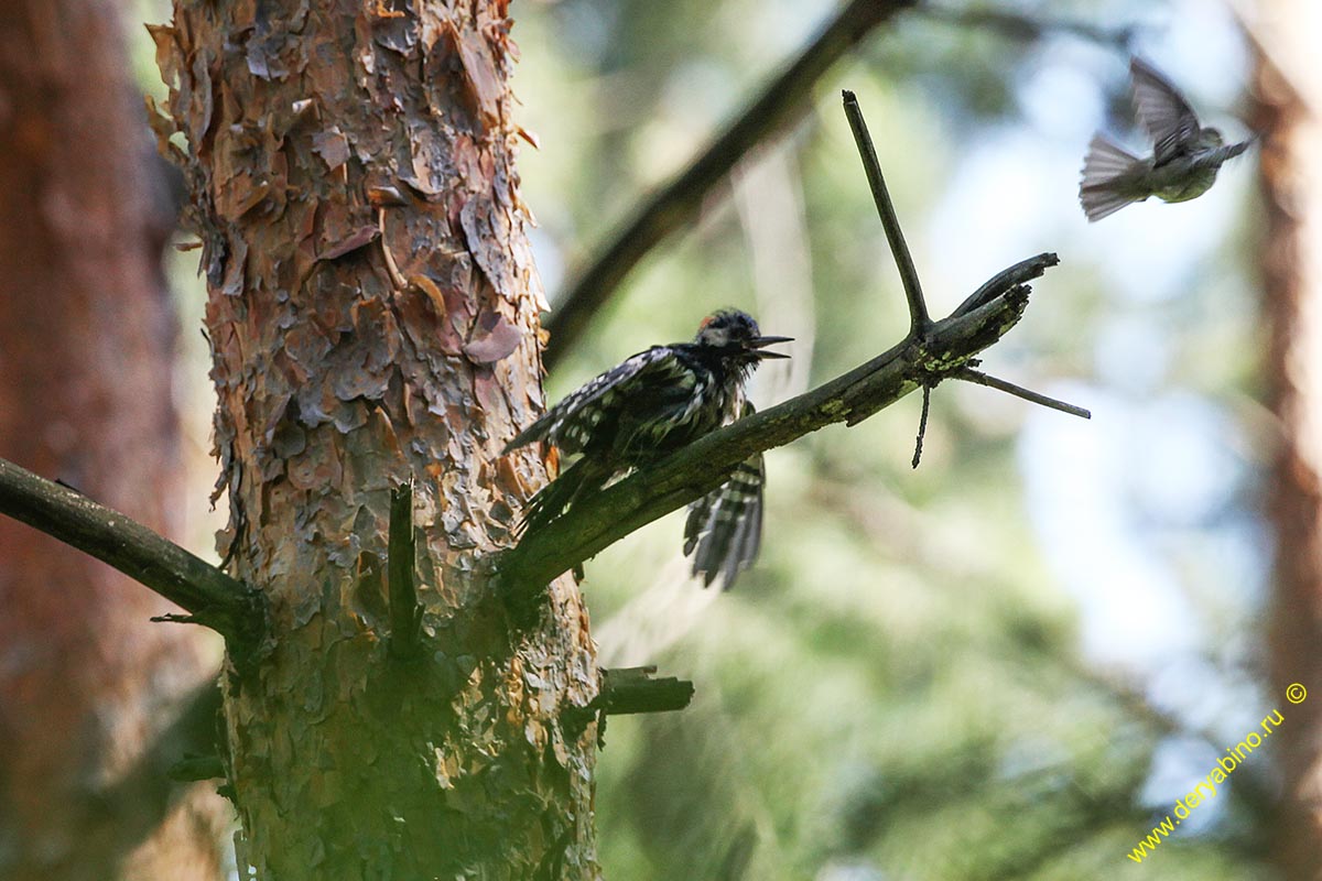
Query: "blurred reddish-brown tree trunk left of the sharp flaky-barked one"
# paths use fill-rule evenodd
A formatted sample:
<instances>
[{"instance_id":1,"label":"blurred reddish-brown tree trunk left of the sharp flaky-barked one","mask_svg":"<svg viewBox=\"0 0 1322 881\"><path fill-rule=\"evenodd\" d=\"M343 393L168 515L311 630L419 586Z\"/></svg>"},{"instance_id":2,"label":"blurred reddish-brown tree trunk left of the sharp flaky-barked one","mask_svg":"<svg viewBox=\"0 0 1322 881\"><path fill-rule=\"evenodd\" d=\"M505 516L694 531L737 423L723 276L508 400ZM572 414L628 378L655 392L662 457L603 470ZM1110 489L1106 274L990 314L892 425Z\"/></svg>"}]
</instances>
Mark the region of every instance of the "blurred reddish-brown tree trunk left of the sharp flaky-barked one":
<instances>
[{"instance_id":1,"label":"blurred reddish-brown tree trunk left of the sharp flaky-barked one","mask_svg":"<svg viewBox=\"0 0 1322 881\"><path fill-rule=\"evenodd\" d=\"M0 454L178 538L152 161L118 4L0 4ZM139 766L214 671L205 633L148 621L172 610L0 519L0 877L219 877L214 787Z\"/></svg>"}]
</instances>

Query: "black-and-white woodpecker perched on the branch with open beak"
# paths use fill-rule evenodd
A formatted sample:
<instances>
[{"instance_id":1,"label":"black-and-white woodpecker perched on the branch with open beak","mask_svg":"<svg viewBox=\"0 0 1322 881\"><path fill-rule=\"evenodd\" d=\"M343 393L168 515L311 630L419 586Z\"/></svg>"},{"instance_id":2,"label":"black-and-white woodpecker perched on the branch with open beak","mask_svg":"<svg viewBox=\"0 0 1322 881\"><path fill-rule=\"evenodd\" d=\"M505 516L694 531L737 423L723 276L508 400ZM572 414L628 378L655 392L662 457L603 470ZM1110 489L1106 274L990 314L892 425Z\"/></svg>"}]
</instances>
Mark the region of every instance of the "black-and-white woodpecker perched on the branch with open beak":
<instances>
[{"instance_id":1,"label":"black-and-white woodpecker perched on the branch with open beak","mask_svg":"<svg viewBox=\"0 0 1322 881\"><path fill-rule=\"evenodd\" d=\"M538 491L524 523L541 527L578 499L751 412L748 376L761 361L788 358L765 347L789 337L764 337L738 309L707 316L693 342L640 351L521 431L505 453L549 441L562 454L582 457ZM689 507L685 556L710 585L728 589L752 564L761 540L761 456L742 462L730 479Z\"/></svg>"}]
</instances>

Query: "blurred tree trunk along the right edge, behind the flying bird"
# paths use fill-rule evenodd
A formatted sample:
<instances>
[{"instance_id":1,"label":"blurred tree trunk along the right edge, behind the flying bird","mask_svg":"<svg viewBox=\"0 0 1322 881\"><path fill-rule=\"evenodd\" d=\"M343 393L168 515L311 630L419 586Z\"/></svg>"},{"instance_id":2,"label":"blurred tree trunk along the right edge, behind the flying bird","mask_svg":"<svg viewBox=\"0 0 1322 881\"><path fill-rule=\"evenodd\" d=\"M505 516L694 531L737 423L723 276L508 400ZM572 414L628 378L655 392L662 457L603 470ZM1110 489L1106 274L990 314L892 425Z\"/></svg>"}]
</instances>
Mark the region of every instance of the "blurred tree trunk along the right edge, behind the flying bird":
<instances>
[{"instance_id":1,"label":"blurred tree trunk along the right edge, behind the flying bird","mask_svg":"<svg viewBox=\"0 0 1322 881\"><path fill-rule=\"evenodd\" d=\"M1257 131L1266 229L1263 310L1269 403L1280 427L1268 510L1276 532L1273 680L1281 700L1286 799L1278 860L1288 878L1322 877L1322 73L1313 0L1264 3Z\"/></svg>"}]
</instances>

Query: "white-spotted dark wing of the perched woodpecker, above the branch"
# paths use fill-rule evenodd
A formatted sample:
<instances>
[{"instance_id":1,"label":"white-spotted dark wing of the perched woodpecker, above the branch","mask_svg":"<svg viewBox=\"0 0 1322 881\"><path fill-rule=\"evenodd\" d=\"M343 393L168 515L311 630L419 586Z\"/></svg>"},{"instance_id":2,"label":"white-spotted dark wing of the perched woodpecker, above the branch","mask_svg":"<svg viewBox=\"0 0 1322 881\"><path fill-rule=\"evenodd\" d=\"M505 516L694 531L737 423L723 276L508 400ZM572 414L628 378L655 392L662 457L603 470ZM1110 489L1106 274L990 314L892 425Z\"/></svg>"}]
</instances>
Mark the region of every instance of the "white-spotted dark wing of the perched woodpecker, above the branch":
<instances>
[{"instance_id":1,"label":"white-spotted dark wing of the perched woodpecker, above the branch","mask_svg":"<svg viewBox=\"0 0 1322 881\"><path fill-rule=\"evenodd\" d=\"M598 424L613 421L609 417L624 403L621 395L637 395L645 387L665 384L673 380L676 370L677 365L666 346L640 351L547 409L541 419L516 435L504 452L549 440L562 453L580 453Z\"/></svg>"}]
</instances>

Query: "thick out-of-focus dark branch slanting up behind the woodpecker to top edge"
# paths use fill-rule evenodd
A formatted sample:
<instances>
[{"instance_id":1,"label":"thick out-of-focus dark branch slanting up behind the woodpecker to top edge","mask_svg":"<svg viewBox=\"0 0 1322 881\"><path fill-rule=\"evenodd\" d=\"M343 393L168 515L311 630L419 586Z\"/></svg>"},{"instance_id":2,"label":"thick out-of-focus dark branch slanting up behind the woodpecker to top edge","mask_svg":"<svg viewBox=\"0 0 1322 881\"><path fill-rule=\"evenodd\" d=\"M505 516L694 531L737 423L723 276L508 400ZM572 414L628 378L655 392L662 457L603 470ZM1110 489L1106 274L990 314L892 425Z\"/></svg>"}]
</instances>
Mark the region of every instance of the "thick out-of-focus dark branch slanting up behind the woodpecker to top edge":
<instances>
[{"instance_id":1,"label":"thick out-of-focus dark branch slanting up behind the woodpecker to top edge","mask_svg":"<svg viewBox=\"0 0 1322 881\"><path fill-rule=\"evenodd\" d=\"M798 112L818 79L874 28L915 0L850 0L793 62L785 67L680 174L661 186L620 225L609 243L557 299L546 321L550 341L542 363L554 366L587 330L592 316L652 248L686 226L707 193L755 144L783 128Z\"/></svg>"}]
</instances>

